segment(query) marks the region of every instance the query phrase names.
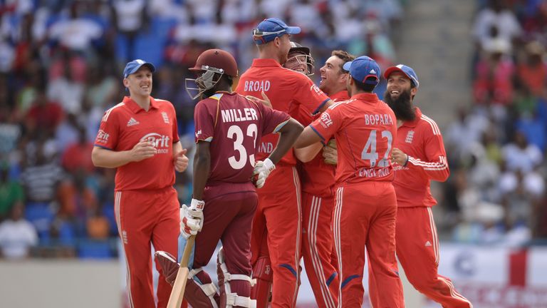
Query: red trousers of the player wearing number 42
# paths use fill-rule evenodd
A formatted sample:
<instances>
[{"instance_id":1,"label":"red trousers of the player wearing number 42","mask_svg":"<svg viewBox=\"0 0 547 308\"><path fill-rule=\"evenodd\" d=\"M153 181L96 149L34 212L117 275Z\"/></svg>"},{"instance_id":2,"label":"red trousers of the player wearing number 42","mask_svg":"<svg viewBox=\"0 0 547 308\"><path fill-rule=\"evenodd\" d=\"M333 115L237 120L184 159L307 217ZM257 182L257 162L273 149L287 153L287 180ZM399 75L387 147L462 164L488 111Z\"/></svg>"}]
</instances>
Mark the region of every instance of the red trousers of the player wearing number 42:
<instances>
[{"instance_id":1,"label":"red trousers of the player wearing number 42","mask_svg":"<svg viewBox=\"0 0 547 308\"><path fill-rule=\"evenodd\" d=\"M373 307L405 307L395 259L397 199L390 182L343 184L336 190L333 233L338 256L338 307L363 306L365 247L378 290Z\"/></svg>"}]
</instances>

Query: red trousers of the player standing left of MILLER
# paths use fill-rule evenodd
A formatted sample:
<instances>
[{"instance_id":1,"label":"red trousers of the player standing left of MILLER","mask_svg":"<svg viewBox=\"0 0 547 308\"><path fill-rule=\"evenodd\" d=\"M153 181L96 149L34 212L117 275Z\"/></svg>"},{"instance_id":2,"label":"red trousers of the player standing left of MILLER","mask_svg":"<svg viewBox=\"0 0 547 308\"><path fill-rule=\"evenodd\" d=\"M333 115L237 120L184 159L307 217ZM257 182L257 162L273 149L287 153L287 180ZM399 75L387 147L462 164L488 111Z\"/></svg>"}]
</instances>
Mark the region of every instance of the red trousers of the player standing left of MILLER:
<instances>
[{"instance_id":1,"label":"red trousers of the player standing left of MILLER","mask_svg":"<svg viewBox=\"0 0 547 308\"><path fill-rule=\"evenodd\" d=\"M127 263L127 295L131 308L156 307L152 285L152 255L163 250L177 257L179 201L174 188L115 192L114 212ZM157 307L167 307L171 286L156 264L160 279Z\"/></svg>"}]
</instances>

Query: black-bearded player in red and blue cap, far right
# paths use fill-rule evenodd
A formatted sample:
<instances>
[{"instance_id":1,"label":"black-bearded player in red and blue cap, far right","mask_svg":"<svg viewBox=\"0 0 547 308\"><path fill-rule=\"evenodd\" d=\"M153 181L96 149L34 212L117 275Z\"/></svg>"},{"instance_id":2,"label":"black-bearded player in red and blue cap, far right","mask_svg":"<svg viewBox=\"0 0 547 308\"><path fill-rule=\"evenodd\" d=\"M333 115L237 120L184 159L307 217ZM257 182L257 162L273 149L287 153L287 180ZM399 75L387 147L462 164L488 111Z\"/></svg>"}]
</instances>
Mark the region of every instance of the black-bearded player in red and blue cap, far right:
<instances>
[{"instance_id":1,"label":"black-bearded player in red and blue cap, far right","mask_svg":"<svg viewBox=\"0 0 547 308\"><path fill-rule=\"evenodd\" d=\"M392 159L395 165L397 193L397 257L410 283L424 295L447 308L469 308L471 302L454 289L447 277L437 273L439 239L431 207L437 201L429 191L431 180L444 181L449 176L447 153L441 130L434 120L413 105L418 91L418 77L409 66L387 68L385 101L397 117L397 138ZM373 276L371 276L373 277ZM370 279L370 299L384 289Z\"/></svg>"}]
</instances>

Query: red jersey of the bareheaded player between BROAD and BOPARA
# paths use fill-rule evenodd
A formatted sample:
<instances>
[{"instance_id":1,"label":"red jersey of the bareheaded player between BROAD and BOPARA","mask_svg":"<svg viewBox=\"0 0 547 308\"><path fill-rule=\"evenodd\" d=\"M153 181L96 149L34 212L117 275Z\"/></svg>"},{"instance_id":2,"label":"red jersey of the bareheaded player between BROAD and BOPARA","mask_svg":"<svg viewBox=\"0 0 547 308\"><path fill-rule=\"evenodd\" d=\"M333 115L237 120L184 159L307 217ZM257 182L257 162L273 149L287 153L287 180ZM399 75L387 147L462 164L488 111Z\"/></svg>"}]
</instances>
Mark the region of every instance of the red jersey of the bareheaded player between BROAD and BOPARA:
<instances>
[{"instance_id":1,"label":"red jersey of the bareheaded player between BROAD and BOPARA","mask_svg":"<svg viewBox=\"0 0 547 308\"><path fill-rule=\"evenodd\" d=\"M330 99L338 102L348 100L348 91L340 91L330 96ZM319 118L320 116L316 116ZM320 197L333 195L330 189L335 183L336 166L325 163L323 150L319 151L313 160L303 163L300 169L302 191Z\"/></svg>"}]
</instances>

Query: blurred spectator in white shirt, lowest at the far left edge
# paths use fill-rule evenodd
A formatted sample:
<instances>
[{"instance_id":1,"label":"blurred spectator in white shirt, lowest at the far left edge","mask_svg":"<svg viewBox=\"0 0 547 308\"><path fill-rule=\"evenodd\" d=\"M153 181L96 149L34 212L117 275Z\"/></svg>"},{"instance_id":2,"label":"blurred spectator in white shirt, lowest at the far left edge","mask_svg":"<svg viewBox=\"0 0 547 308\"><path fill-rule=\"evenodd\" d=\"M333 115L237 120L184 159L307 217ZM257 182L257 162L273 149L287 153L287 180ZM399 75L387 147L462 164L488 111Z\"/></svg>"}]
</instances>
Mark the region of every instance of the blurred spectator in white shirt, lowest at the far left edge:
<instances>
[{"instance_id":1,"label":"blurred spectator in white shirt, lowest at the far left edge","mask_svg":"<svg viewBox=\"0 0 547 308\"><path fill-rule=\"evenodd\" d=\"M16 202L9 219L0 223L0 257L9 260L28 257L30 248L36 244L36 230L23 218L23 202Z\"/></svg>"}]
</instances>

